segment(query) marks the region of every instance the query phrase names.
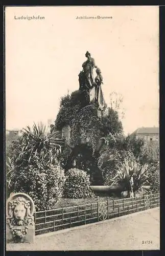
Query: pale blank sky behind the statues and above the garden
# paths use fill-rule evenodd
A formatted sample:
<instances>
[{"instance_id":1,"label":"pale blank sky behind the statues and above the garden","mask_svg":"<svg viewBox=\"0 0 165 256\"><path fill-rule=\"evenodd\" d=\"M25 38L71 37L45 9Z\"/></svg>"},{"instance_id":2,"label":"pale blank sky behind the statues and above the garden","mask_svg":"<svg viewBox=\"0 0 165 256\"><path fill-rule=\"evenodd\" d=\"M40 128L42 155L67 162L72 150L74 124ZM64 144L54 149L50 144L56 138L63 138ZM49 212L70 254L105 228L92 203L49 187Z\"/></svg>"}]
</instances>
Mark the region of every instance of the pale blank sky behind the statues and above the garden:
<instances>
[{"instance_id":1,"label":"pale blank sky behind the statues and above the garden","mask_svg":"<svg viewBox=\"0 0 165 256\"><path fill-rule=\"evenodd\" d=\"M39 20L14 19L44 16ZM112 19L76 19L77 16ZM79 88L89 51L106 102L123 95L125 133L158 126L158 7L7 7L6 129L55 119L60 97Z\"/></svg>"}]
</instances>

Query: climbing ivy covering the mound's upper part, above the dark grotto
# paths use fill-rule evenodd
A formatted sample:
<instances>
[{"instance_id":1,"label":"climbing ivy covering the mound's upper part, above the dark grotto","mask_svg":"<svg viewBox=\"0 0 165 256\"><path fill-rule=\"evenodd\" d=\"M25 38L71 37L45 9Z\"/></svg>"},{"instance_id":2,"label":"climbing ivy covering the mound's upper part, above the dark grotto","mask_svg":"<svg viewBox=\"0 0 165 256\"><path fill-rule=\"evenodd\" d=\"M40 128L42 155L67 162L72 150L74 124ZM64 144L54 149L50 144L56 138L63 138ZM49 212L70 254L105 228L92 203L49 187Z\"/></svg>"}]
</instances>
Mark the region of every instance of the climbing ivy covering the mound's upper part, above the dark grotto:
<instances>
[{"instance_id":1,"label":"climbing ivy covering the mound's upper part, above the dark grotto","mask_svg":"<svg viewBox=\"0 0 165 256\"><path fill-rule=\"evenodd\" d=\"M61 98L55 126L57 130L61 130L64 125L70 125L73 145L79 144L80 137L87 139L93 152L99 138L123 131L116 111L108 108L108 115L101 120L98 117L97 105L90 104L87 93L80 90Z\"/></svg>"}]
</instances>

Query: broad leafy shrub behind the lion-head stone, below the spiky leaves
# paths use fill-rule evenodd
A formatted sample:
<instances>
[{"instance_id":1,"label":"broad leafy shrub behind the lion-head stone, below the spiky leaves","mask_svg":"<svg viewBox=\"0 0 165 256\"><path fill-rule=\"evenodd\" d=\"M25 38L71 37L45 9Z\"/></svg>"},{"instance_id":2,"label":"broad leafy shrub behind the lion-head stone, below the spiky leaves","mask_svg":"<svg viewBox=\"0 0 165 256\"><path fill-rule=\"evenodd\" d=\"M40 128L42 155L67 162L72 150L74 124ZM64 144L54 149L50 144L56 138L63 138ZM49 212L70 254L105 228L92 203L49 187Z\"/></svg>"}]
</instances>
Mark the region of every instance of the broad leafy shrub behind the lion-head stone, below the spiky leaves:
<instances>
[{"instance_id":1,"label":"broad leafy shrub behind the lion-head stone, below the spiky leaves","mask_svg":"<svg viewBox=\"0 0 165 256\"><path fill-rule=\"evenodd\" d=\"M47 210L62 197L64 181L64 170L60 166L35 156L28 166L15 167L8 186L14 193L31 196L36 210Z\"/></svg>"}]
</instances>

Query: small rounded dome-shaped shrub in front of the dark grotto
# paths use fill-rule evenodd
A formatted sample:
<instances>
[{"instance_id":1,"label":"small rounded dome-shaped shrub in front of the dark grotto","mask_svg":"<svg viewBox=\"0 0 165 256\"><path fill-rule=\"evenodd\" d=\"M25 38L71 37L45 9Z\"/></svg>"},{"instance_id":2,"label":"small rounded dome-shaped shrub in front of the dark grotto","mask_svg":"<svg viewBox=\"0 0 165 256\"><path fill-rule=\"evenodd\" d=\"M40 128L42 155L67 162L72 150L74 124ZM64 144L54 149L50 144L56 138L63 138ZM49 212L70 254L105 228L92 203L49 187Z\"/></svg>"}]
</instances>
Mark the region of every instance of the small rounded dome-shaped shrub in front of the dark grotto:
<instances>
[{"instance_id":1,"label":"small rounded dome-shaped shrub in front of the dark grotto","mask_svg":"<svg viewBox=\"0 0 165 256\"><path fill-rule=\"evenodd\" d=\"M67 198L93 197L89 175L77 168L69 169L66 173L63 195Z\"/></svg>"}]
</instances>

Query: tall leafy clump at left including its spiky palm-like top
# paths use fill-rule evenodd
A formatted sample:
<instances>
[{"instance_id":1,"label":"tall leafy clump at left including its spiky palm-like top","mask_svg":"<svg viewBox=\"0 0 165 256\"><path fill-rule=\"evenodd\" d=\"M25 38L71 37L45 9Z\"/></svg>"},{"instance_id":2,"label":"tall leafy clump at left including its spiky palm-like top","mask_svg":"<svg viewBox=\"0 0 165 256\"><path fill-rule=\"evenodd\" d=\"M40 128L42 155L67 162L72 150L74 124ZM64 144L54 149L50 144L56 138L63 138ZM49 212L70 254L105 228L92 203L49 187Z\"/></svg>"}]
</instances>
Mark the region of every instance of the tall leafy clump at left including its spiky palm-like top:
<instances>
[{"instance_id":1,"label":"tall leafy clump at left including its spiky palm-like top","mask_svg":"<svg viewBox=\"0 0 165 256\"><path fill-rule=\"evenodd\" d=\"M61 146L57 132L45 133L45 126L28 126L12 143L12 158L7 161L7 188L32 197L37 210L51 209L62 196L64 172L57 165Z\"/></svg>"}]
</instances>

